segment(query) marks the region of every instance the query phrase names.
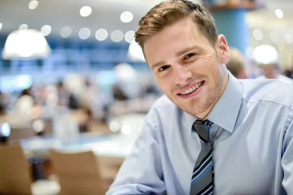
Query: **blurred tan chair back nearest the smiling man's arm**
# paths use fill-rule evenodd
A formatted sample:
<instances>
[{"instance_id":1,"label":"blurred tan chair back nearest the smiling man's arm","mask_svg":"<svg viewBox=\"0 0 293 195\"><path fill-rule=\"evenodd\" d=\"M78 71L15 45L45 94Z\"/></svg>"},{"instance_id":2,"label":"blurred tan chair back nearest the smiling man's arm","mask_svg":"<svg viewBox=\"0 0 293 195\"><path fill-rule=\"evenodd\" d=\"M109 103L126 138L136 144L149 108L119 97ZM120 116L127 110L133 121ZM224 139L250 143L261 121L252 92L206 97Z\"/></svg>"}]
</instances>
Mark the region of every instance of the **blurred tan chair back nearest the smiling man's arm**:
<instances>
[{"instance_id":1,"label":"blurred tan chair back nearest the smiling man's arm","mask_svg":"<svg viewBox=\"0 0 293 195\"><path fill-rule=\"evenodd\" d=\"M62 195L105 195L104 181L93 152L50 151Z\"/></svg>"}]
</instances>

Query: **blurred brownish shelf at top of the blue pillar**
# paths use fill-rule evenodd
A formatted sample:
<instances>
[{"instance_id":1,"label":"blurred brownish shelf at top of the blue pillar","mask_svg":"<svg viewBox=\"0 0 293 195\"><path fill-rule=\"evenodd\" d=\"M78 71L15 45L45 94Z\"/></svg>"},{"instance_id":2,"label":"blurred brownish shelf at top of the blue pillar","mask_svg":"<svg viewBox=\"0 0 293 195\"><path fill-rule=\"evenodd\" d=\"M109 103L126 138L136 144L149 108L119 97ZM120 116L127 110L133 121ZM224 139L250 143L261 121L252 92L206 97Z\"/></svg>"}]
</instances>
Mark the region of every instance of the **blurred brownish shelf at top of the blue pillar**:
<instances>
[{"instance_id":1,"label":"blurred brownish shelf at top of the blue pillar","mask_svg":"<svg viewBox=\"0 0 293 195\"><path fill-rule=\"evenodd\" d=\"M265 7L265 4L259 0L241 0L240 2L228 2L222 5L204 6L210 11L227 10L227 9L247 9L248 11L258 10Z\"/></svg>"}]
</instances>

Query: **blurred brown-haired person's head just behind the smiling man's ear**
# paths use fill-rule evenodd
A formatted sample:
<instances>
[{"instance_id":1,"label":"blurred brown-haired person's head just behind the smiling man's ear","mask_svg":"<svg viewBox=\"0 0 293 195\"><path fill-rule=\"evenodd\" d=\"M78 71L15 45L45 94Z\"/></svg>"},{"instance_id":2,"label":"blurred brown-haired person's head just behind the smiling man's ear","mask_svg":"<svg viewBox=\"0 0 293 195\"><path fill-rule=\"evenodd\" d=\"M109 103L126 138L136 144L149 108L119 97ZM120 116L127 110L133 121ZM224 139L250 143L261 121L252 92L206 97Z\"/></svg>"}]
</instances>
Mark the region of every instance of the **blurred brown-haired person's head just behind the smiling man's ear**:
<instances>
[{"instance_id":1,"label":"blurred brown-haired person's head just behind the smiling man's ear","mask_svg":"<svg viewBox=\"0 0 293 195\"><path fill-rule=\"evenodd\" d=\"M244 56L236 48L230 48L230 60L226 64L227 69L237 79L247 79L248 71L246 69Z\"/></svg>"}]
</instances>

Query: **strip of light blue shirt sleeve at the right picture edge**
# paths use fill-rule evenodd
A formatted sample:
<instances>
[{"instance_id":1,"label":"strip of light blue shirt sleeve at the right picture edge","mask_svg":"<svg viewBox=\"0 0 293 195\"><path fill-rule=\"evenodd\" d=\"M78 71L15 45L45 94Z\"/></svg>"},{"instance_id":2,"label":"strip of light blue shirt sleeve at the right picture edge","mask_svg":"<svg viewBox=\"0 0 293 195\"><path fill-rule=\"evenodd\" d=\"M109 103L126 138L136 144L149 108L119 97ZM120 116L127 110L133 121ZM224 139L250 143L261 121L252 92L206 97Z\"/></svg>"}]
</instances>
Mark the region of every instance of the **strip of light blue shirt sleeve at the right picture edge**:
<instances>
[{"instance_id":1,"label":"strip of light blue shirt sleeve at the right picture edge","mask_svg":"<svg viewBox=\"0 0 293 195\"><path fill-rule=\"evenodd\" d=\"M293 111L289 116L289 126L283 139L283 156L281 166L284 172L282 185L288 195L293 195Z\"/></svg>"}]
</instances>

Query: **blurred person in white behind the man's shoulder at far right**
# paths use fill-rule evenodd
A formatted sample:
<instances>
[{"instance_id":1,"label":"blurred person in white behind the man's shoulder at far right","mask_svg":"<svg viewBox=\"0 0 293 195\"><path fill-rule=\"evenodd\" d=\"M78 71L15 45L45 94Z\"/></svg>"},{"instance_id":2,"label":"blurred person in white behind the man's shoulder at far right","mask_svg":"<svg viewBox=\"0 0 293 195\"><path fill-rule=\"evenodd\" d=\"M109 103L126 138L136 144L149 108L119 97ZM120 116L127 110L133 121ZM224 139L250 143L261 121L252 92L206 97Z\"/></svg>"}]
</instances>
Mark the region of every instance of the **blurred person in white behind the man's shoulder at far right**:
<instances>
[{"instance_id":1,"label":"blurred person in white behind the man's shoulder at far right","mask_svg":"<svg viewBox=\"0 0 293 195\"><path fill-rule=\"evenodd\" d=\"M286 77L280 73L279 67L277 64L266 64L261 65L264 75L257 77L257 79L276 79L289 84L293 83L293 79Z\"/></svg>"}]
</instances>

